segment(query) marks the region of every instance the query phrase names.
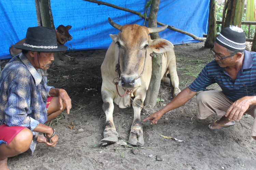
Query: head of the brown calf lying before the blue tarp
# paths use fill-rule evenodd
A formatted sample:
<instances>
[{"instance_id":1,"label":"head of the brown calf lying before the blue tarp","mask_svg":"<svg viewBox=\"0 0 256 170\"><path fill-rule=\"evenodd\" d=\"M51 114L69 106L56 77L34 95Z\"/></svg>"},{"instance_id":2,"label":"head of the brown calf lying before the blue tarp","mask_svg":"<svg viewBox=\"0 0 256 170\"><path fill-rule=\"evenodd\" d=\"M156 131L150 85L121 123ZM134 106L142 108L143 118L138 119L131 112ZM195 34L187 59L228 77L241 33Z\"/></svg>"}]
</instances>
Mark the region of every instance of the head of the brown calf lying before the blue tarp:
<instances>
[{"instance_id":1,"label":"head of the brown calf lying before the blue tarp","mask_svg":"<svg viewBox=\"0 0 256 170\"><path fill-rule=\"evenodd\" d=\"M56 36L57 36L57 43L64 45L67 43L67 41L70 41L73 37L69 34L69 30L72 26L63 26L59 25L59 27L56 28Z\"/></svg>"}]
</instances>

